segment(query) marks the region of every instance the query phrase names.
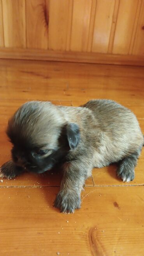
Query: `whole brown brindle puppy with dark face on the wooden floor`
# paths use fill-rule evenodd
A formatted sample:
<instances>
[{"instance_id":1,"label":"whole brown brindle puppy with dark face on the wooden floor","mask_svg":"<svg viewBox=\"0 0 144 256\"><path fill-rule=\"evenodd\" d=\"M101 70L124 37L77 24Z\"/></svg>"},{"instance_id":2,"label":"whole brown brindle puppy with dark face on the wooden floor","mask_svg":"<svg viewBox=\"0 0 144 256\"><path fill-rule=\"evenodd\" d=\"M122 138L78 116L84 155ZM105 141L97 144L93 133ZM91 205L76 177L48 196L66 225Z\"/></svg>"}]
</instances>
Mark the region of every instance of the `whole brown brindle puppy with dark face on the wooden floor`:
<instances>
[{"instance_id":1,"label":"whole brown brindle puppy with dark face on the wooden floor","mask_svg":"<svg viewBox=\"0 0 144 256\"><path fill-rule=\"evenodd\" d=\"M62 212L81 206L81 190L94 167L118 162L118 176L134 179L134 168L144 145L135 115L111 100L91 100L80 107L30 101L9 120L12 161L0 177L21 172L43 173L63 164L60 192L54 202Z\"/></svg>"}]
</instances>

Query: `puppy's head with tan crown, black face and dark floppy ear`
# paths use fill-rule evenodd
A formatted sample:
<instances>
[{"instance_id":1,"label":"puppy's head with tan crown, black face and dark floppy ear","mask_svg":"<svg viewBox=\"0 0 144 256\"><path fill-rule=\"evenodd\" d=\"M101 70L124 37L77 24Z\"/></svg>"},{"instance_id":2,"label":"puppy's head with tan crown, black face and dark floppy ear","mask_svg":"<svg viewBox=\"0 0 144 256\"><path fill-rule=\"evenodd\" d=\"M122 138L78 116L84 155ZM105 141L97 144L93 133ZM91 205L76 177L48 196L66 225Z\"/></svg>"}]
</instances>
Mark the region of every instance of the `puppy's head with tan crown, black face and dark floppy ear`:
<instances>
[{"instance_id":1,"label":"puppy's head with tan crown, black face and dark floppy ear","mask_svg":"<svg viewBox=\"0 0 144 256\"><path fill-rule=\"evenodd\" d=\"M74 150L80 141L77 124L68 124L60 108L30 101L16 111L7 127L12 159L28 171L43 173Z\"/></svg>"}]
</instances>

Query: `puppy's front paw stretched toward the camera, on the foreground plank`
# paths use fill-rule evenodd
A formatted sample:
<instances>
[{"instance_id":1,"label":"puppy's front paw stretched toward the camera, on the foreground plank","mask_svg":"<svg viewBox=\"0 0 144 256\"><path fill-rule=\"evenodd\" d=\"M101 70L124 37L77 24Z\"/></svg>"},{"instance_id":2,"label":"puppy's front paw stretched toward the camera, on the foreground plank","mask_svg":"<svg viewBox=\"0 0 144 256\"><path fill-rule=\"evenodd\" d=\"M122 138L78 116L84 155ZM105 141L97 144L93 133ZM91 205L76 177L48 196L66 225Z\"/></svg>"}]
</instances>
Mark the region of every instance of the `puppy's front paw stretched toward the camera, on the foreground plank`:
<instances>
[{"instance_id":1,"label":"puppy's front paw stretched toward the camera, on the foreground plank","mask_svg":"<svg viewBox=\"0 0 144 256\"><path fill-rule=\"evenodd\" d=\"M54 207L60 208L61 212L71 213L81 208L81 198L77 192L61 190L54 201Z\"/></svg>"}]
</instances>

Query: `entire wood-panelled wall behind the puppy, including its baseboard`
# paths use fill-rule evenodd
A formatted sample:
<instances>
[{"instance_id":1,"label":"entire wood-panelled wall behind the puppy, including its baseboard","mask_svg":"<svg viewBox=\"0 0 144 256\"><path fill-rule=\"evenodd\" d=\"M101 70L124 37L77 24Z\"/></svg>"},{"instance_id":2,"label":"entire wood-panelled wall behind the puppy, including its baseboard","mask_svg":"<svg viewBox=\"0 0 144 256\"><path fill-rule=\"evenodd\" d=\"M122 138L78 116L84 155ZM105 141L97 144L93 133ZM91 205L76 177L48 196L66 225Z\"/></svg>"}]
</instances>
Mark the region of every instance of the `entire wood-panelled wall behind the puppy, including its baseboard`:
<instances>
[{"instance_id":1,"label":"entire wood-panelled wall behind the puppy, including its baseboard","mask_svg":"<svg viewBox=\"0 0 144 256\"><path fill-rule=\"evenodd\" d=\"M0 0L0 58L14 56L144 65L144 0Z\"/></svg>"}]
</instances>

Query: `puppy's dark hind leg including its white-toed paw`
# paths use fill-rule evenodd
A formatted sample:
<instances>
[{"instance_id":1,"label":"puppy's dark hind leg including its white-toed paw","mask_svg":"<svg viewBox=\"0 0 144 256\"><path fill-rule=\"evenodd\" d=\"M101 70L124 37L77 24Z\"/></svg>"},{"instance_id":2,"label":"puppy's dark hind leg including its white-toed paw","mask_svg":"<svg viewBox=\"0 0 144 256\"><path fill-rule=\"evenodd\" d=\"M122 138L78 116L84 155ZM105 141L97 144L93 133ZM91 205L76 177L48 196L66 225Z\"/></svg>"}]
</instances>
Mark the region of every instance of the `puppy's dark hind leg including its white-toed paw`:
<instances>
[{"instance_id":1,"label":"puppy's dark hind leg including its white-toed paw","mask_svg":"<svg viewBox=\"0 0 144 256\"><path fill-rule=\"evenodd\" d=\"M117 174L124 182L129 182L135 178L135 166L137 165L140 152L141 148L119 162Z\"/></svg>"}]
</instances>

